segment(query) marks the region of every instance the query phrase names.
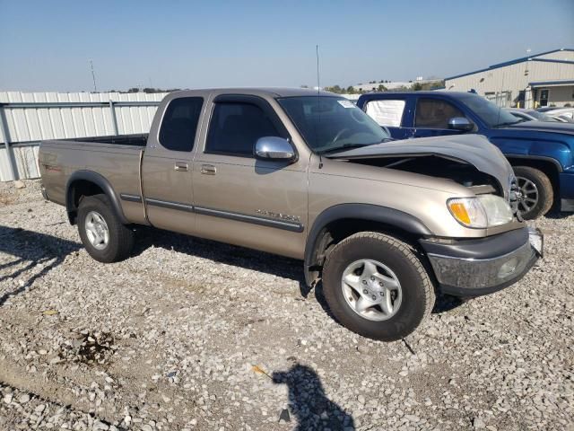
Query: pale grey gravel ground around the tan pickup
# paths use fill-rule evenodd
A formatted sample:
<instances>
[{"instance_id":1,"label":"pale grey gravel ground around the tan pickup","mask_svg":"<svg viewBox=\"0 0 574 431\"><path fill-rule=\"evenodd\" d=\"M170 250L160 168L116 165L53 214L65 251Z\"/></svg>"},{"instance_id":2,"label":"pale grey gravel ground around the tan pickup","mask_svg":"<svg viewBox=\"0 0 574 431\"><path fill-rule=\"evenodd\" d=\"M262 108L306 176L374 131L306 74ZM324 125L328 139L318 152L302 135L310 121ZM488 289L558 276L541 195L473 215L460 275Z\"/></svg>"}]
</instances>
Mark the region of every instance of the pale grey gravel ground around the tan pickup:
<instances>
[{"instance_id":1,"label":"pale grey gravel ground around the tan pickup","mask_svg":"<svg viewBox=\"0 0 574 431\"><path fill-rule=\"evenodd\" d=\"M574 429L574 216L517 285L352 334L301 264L161 231L104 265L0 183L0 429Z\"/></svg>"}]
</instances>

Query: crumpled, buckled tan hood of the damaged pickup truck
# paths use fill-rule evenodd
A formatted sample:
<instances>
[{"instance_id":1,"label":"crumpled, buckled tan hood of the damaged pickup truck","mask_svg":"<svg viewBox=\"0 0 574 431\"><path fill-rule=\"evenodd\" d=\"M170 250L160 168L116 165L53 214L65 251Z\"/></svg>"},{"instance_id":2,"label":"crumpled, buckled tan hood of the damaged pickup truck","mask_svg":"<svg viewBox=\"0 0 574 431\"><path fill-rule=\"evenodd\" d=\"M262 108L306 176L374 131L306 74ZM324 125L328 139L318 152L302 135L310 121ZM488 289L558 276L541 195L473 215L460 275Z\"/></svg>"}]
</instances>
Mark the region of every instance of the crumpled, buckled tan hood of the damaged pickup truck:
<instances>
[{"instance_id":1,"label":"crumpled, buckled tan hood of the damaged pickup truck","mask_svg":"<svg viewBox=\"0 0 574 431\"><path fill-rule=\"evenodd\" d=\"M383 142L339 153L327 154L334 159L368 159L378 157L438 157L469 163L478 171L487 173L499 181L505 196L509 194L510 180L514 172L500 149L481 135L453 135L420 137Z\"/></svg>"}]
</instances>

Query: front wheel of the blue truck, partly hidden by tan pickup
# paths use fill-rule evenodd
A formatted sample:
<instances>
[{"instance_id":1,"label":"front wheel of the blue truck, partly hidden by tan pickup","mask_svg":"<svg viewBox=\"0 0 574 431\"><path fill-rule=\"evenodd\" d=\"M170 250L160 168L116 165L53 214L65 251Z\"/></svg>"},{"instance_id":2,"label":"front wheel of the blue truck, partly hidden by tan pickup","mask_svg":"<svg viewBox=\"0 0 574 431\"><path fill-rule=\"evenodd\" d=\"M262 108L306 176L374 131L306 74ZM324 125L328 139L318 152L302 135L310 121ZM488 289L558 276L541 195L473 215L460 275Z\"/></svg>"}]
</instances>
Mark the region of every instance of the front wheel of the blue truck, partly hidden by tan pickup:
<instances>
[{"instance_id":1,"label":"front wheel of the blue truck, partly hidden by tan pickup","mask_svg":"<svg viewBox=\"0 0 574 431\"><path fill-rule=\"evenodd\" d=\"M514 166L513 169L522 193L517 204L520 215L525 220L544 216L554 203L551 180L544 172L530 166Z\"/></svg>"}]
</instances>

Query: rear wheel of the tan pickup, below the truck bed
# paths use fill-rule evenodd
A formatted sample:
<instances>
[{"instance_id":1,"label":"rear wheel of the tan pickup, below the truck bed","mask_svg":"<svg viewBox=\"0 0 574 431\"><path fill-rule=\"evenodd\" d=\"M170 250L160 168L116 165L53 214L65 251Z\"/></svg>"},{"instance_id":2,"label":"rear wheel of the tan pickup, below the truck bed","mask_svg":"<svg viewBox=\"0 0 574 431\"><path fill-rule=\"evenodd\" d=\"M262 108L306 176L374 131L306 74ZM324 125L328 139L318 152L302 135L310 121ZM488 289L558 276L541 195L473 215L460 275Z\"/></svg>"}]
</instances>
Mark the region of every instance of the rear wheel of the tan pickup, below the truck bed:
<instances>
[{"instance_id":1,"label":"rear wheel of the tan pickup, below the truck bed","mask_svg":"<svg viewBox=\"0 0 574 431\"><path fill-rule=\"evenodd\" d=\"M99 218L104 223L99 222ZM91 229L87 228L91 224ZM93 227L96 225L96 227ZM94 229L99 233L106 232L107 241L93 240L105 235L94 235ZM117 262L129 257L134 246L134 232L122 224L116 213L112 209L106 195L88 196L82 199L78 208L78 231L82 239L83 246L93 259L103 263ZM95 237L95 238L94 238Z\"/></svg>"}]
</instances>

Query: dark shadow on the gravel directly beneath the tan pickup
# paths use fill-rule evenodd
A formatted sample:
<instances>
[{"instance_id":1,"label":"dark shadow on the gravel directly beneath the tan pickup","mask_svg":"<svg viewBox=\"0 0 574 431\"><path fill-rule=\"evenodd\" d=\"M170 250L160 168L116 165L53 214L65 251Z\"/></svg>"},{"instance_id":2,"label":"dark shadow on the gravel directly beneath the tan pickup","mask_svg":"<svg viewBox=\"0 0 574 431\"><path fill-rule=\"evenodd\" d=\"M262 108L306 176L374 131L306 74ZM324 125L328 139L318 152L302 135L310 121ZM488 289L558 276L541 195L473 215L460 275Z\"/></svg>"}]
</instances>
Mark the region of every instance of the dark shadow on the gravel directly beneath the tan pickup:
<instances>
[{"instance_id":1,"label":"dark shadow on the gravel directly beneath the tan pickup","mask_svg":"<svg viewBox=\"0 0 574 431\"><path fill-rule=\"evenodd\" d=\"M334 320L335 316L329 309L323 295L323 286L319 282L314 288L305 283L302 263L297 259L284 258L263 251L255 251L243 247L204 240L179 233L171 233L160 229L142 227L138 229L134 255L139 255L150 247L160 247L165 250L178 251L202 259L210 259L225 265L252 269L265 272L277 277L287 278L299 283L300 295L307 299L311 291L323 310ZM463 302L454 296L437 295L433 313L448 312L457 308Z\"/></svg>"}]
</instances>

